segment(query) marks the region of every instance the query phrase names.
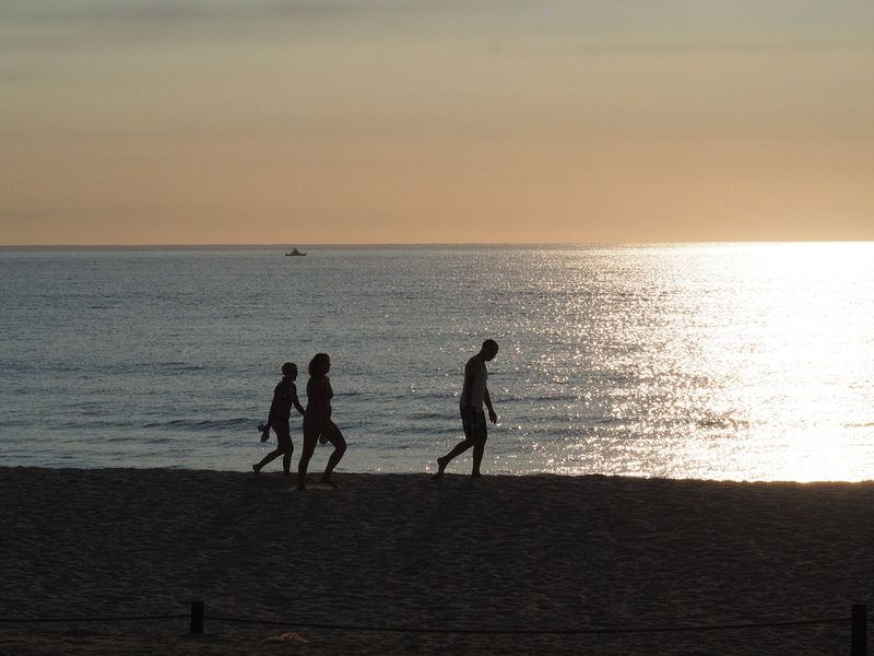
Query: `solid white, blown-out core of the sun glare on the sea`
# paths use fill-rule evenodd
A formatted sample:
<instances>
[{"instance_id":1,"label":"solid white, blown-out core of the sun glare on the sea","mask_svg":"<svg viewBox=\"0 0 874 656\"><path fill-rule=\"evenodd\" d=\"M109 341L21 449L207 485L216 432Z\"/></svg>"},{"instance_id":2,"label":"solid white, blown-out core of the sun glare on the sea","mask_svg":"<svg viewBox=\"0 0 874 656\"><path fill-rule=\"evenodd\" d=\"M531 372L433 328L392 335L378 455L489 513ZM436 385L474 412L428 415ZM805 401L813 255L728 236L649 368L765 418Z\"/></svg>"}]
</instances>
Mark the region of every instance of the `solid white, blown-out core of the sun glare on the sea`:
<instances>
[{"instance_id":1,"label":"solid white, blown-out core of the sun glare on the sea","mask_svg":"<svg viewBox=\"0 0 874 656\"><path fill-rule=\"evenodd\" d=\"M737 466L751 478L870 478L852 454L872 424L847 422L871 409L874 387L874 317L861 303L874 293L870 249L796 244L748 253L734 268L733 317L706 347L723 351L723 394L749 425Z\"/></svg>"}]
</instances>

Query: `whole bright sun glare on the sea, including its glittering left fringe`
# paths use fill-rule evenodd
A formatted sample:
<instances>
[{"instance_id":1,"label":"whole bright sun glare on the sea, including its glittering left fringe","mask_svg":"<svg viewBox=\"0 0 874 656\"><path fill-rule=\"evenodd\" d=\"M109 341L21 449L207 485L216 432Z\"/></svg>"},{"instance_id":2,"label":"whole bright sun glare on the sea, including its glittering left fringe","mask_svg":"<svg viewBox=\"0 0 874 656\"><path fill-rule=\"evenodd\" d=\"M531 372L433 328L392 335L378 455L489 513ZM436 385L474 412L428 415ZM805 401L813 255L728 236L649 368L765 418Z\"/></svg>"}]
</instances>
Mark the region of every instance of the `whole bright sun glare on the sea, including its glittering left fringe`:
<instances>
[{"instance_id":1,"label":"whole bright sun glare on the sea, including its glittering left fringe","mask_svg":"<svg viewBox=\"0 0 874 656\"><path fill-rule=\"evenodd\" d=\"M607 427L590 425L547 465L562 473L874 478L871 256L870 244L835 243L618 253L637 263L605 305L624 309L567 329L592 372L576 411L603 415Z\"/></svg>"}]
</instances>

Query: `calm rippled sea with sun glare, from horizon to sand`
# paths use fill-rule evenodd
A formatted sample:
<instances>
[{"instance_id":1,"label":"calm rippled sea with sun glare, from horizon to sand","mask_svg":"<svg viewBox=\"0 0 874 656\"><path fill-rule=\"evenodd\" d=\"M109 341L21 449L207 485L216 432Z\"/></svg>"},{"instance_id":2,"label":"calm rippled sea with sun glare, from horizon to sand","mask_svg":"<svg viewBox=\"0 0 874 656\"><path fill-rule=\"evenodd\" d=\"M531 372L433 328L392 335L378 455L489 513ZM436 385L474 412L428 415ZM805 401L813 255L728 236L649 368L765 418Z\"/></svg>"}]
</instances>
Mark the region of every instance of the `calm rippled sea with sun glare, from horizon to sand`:
<instances>
[{"instance_id":1,"label":"calm rippled sea with sun glare, from horizon to sand","mask_svg":"<svg viewBox=\"0 0 874 656\"><path fill-rule=\"evenodd\" d=\"M280 365L305 397L327 351L340 470L433 470L492 337L486 472L874 478L874 244L7 249L0 276L3 466L247 470Z\"/></svg>"}]
</instances>

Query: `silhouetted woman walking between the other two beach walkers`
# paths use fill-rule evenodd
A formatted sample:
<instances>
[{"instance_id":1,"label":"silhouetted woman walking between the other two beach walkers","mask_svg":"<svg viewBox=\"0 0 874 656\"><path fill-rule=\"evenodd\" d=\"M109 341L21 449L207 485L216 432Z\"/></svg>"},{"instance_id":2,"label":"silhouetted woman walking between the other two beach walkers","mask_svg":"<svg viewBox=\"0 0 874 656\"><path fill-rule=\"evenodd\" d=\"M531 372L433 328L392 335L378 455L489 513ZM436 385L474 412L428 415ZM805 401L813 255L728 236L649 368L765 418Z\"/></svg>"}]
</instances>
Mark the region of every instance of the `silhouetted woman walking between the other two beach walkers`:
<instances>
[{"instance_id":1,"label":"silhouetted woman walking between the other two beach walkers","mask_svg":"<svg viewBox=\"0 0 874 656\"><path fill-rule=\"evenodd\" d=\"M307 489L307 467L316 450L317 442L322 444L330 442L334 445L334 452L328 459L324 473L321 475L321 482L336 488L338 485L331 480L331 472L346 452L346 441L336 424L331 421L331 399L334 393L331 389L331 380L328 378L328 372L331 371L331 359L328 353L316 353L309 361L308 371L307 409L304 413L304 450L297 465L297 489Z\"/></svg>"}]
</instances>

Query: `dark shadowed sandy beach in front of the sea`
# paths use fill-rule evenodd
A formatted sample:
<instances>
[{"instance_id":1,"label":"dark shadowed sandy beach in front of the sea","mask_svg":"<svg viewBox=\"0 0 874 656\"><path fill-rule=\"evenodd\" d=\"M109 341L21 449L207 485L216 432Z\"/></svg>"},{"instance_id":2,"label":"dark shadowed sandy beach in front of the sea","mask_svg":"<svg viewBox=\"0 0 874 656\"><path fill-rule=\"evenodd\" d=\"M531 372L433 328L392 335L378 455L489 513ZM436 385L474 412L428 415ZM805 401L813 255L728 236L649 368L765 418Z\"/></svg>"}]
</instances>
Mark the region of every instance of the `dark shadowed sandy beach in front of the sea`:
<instances>
[{"instance_id":1,"label":"dark shadowed sandy beach in front of the sea","mask_svg":"<svg viewBox=\"0 0 874 656\"><path fill-rule=\"evenodd\" d=\"M874 483L0 468L2 654L824 654L874 599ZM276 621L238 624L213 618Z\"/></svg>"}]
</instances>

